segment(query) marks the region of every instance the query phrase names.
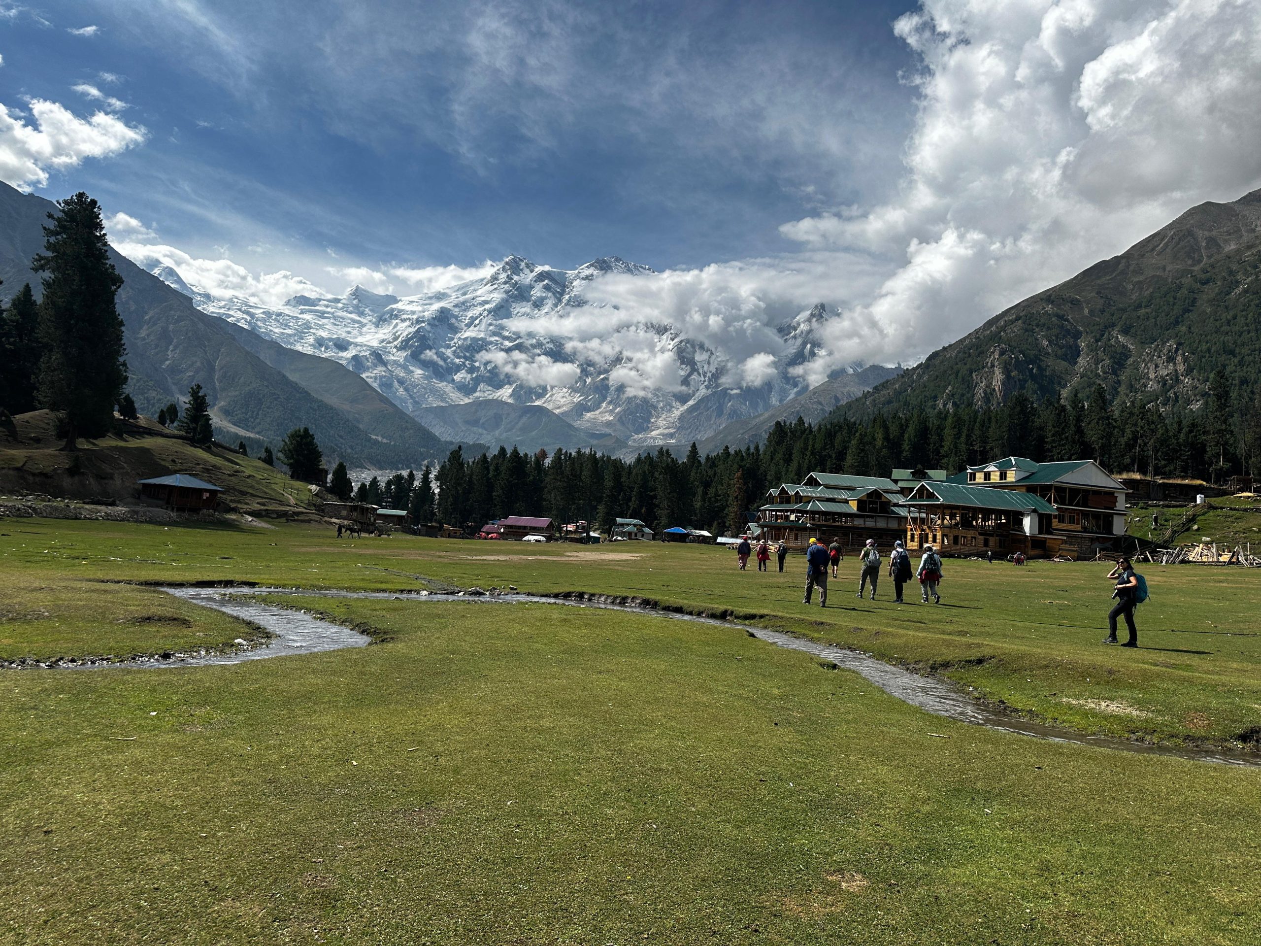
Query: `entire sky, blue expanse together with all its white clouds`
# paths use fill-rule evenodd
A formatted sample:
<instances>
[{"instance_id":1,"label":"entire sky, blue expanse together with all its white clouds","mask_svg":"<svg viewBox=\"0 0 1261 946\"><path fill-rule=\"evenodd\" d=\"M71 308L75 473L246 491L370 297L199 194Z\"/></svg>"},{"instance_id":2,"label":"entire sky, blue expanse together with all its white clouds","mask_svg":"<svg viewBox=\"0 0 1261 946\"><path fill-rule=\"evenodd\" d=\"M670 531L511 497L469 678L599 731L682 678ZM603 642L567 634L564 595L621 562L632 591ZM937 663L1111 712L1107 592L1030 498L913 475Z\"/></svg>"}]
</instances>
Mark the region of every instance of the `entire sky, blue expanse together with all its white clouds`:
<instances>
[{"instance_id":1,"label":"entire sky, blue expanse together with all its white clouds","mask_svg":"<svg viewBox=\"0 0 1261 946\"><path fill-rule=\"evenodd\" d=\"M719 339L826 303L816 378L1261 187L1256 0L0 0L0 179L213 295L618 255Z\"/></svg>"}]
</instances>

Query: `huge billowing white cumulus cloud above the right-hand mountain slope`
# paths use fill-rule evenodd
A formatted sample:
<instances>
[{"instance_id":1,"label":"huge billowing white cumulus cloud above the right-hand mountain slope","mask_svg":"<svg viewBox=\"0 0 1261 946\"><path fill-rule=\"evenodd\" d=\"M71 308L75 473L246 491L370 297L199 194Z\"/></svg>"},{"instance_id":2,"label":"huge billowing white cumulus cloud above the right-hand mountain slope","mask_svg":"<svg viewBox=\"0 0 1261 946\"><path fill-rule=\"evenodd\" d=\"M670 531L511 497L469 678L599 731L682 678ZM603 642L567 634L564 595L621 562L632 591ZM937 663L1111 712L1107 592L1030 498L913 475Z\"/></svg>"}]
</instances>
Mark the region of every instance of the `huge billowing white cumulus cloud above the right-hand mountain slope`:
<instances>
[{"instance_id":1,"label":"huge billowing white cumulus cloud above the right-hand mountain slope","mask_svg":"<svg viewBox=\"0 0 1261 946\"><path fill-rule=\"evenodd\" d=\"M786 223L893 271L826 329L837 359L922 356L1206 199L1261 183L1261 5L924 0L898 197Z\"/></svg>"}]
</instances>

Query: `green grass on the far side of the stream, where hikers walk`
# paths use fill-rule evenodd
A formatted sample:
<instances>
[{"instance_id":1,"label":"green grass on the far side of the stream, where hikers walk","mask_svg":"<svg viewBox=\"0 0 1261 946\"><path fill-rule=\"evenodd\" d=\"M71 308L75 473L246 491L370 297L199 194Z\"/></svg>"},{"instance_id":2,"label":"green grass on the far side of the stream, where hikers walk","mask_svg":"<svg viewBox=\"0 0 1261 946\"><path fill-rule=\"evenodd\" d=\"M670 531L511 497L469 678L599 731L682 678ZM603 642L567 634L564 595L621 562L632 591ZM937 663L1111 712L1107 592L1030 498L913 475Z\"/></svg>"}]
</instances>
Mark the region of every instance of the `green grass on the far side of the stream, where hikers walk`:
<instances>
[{"instance_id":1,"label":"green grass on the far side of the stream, where hikers walk","mask_svg":"<svg viewBox=\"0 0 1261 946\"><path fill-rule=\"evenodd\" d=\"M1100 643L1111 604L1107 565L947 560L941 607L852 597L842 565L825 609L801 604L803 561L740 573L714 547L422 540L337 541L329 530L164 528L8 520L0 573L43 580L253 580L306 588L416 589L425 575L462 587L585 590L734 610L768 627L857 647L939 672L979 698L1084 732L1155 742L1231 744L1261 727L1261 574L1144 565L1139 651ZM913 590L913 589L912 589ZM912 598L914 595L912 594ZM16 642L16 643L20 643ZM93 648L95 650L95 648Z\"/></svg>"}]
</instances>

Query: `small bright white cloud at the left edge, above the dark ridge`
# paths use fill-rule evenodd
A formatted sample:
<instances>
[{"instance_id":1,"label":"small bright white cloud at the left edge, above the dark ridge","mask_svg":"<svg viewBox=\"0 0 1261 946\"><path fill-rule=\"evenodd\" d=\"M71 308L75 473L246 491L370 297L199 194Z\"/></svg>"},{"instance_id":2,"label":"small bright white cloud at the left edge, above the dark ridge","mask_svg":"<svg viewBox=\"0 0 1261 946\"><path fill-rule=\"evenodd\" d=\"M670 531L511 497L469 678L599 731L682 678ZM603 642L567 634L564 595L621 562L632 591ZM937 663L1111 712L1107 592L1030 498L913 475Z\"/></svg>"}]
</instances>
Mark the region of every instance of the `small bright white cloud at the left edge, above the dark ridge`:
<instances>
[{"instance_id":1,"label":"small bright white cloud at the left edge, above the dark ridge","mask_svg":"<svg viewBox=\"0 0 1261 946\"><path fill-rule=\"evenodd\" d=\"M18 188L43 187L48 169L73 168L87 158L106 158L141 144L148 132L113 115L78 119L57 102L33 98L34 126L20 111L0 105L0 180Z\"/></svg>"}]
</instances>

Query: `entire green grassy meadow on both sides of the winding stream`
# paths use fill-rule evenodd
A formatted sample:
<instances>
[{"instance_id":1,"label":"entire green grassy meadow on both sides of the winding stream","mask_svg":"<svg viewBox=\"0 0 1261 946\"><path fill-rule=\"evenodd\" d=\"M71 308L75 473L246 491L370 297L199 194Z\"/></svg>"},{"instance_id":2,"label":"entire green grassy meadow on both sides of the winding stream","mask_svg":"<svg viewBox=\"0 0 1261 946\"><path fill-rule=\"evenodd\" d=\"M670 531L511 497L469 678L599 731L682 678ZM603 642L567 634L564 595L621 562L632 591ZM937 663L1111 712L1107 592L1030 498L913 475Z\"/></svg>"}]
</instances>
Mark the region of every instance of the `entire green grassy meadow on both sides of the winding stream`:
<instances>
[{"instance_id":1,"label":"entire green grassy meadow on both sides of the winding stream","mask_svg":"<svg viewBox=\"0 0 1261 946\"><path fill-rule=\"evenodd\" d=\"M695 546L4 520L21 604L5 599L0 646L237 636L117 581L513 584L730 609L1091 732L1231 743L1261 725L1261 576L1148 566L1142 647L1124 651L1100 643L1106 570L947 560L942 605L897 607L886 580L854 598L846 561L822 609L801 604L799 556L779 575ZM734 628L284 603L382 642L3 671L0 942L1261 940L1258 769L952 723ZM120 619L145 614L188 623Z\"/></svg>"}]
</instances>

